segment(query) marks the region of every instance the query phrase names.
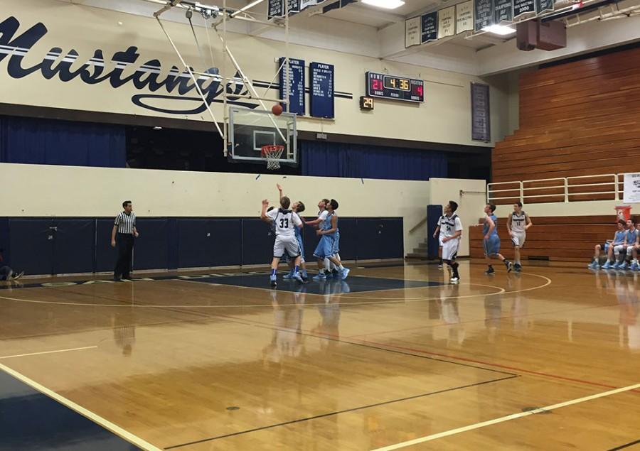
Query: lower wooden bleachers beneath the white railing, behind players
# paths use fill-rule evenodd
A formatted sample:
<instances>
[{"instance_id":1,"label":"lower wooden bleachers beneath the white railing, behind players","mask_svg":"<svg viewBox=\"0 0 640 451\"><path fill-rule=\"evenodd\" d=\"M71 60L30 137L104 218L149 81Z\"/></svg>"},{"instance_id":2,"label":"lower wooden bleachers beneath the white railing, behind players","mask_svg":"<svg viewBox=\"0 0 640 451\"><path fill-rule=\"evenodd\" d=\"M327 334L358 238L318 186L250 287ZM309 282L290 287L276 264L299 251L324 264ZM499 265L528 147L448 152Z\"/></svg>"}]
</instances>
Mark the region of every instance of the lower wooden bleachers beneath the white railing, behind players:
<instances>
[{"instance_id":1,"label":"lower wooden bleachers beneath the white railing, behind players","mask_svg":"<svg viewBox=\"0 0 640 451\"><path fill-rule=\"evenodd\" d=\"M533 227L521 250L523 259L585 261L593 256L593 246L612 239L616 232L613 214L597 216L534 217ZM483 258L482 228L469 227L469 255ZM513 259L513 245L506 230L506 217L498 217L501 254Z\"/></svg>"}]
</instances>

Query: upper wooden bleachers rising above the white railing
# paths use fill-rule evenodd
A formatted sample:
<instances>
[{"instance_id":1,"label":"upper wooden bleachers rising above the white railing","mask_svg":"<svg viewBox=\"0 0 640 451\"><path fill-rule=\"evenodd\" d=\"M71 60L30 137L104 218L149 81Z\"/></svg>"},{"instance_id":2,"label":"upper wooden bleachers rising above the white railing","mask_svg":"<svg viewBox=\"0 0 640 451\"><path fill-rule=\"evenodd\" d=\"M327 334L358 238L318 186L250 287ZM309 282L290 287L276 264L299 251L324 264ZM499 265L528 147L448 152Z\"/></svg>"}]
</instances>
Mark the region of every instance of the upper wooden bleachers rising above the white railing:
<instances>
[{"instance_id":1,"label":"upper wooden bleachers rising above the white railing","mask_svg":"<svg viewBox=\"0 0 640 451\"><path fill-rule=\"evenodd\" d=\"M523 74L520 129L496 143L492 181L640 170L639 61L636 48Z\"/></svg>"}]
</instances>

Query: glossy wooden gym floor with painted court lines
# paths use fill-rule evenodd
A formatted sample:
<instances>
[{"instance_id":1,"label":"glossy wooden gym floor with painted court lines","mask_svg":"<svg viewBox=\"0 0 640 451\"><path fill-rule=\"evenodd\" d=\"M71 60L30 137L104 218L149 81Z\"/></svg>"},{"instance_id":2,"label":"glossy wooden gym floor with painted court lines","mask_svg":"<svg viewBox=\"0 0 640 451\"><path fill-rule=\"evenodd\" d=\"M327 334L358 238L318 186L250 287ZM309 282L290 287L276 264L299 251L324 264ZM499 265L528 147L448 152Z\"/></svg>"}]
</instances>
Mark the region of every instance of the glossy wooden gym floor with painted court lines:
<instances>
[{"instance_id":1,"label":"glossy wooden gym floor with painted court lines","mask_svg":"<svg viewBox=\"0 0 640 451\"><path fill-rule=\"evenodd\" d=\"M0 449L637 446L639 275L495 267L5 286ZM42 433L51 403L86 424ZM96 423L127 442L100 448Z\"/></svg>"}]
</instances>

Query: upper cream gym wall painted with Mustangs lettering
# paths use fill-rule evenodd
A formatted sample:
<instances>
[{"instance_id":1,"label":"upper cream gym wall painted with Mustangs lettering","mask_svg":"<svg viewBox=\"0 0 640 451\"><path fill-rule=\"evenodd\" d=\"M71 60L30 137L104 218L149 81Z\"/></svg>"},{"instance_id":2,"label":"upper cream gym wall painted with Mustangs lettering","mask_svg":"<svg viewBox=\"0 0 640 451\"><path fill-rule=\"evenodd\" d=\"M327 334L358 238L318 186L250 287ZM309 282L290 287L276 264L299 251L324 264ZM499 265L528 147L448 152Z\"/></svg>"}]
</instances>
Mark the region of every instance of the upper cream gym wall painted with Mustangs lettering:
<instances>
[{"instance_id":1,"label":"upper cream gym wall painted with Mustangs lettering","mask_svg":"<svg viewBox=\"0 0 640 451\"><path fill-rule=\"evenodd\" d=\"M119 82L111 83L110 80L96 81L115 70L121 71L116 77L118 80L134 76L134 79L138 78L138 83L144 84L154 75L146 73L136 77L135 70L152 60L156 60L154 65L161 65L161 74L157 75L160 81L165 79L171 65L181 67L161 28L151 16L49 0L6 0L4 6L0 15L0 44L21 50L11 56L0 53L0 84L3 87L0 101L4 104L210 121L206 111L190 112L202 106L193 89L178 94L177 88L171 92L167 92L166 87L159 87L155 91L150 91L148 86L137 89L135 80L128 80L122 85ZM194 21L203 23L199 17L196 20L196 16ZM165 25L186 60L191 65L201 67L203 63L188 25L170 21ZM196 31L199 41L206 43L204 28L198 26ZM267 84L274 80L276 60L284 56L284 43L233 33L228 36L230 49L248 77ZM211 41L215 65L221 67L223 53L220 41L215 35ZM131 64L116 67L111 63L114 53L126 52L131 47L135 48L138 55L131 57ZM75 58L72 53L65 60L55 55L47 56L54 48L61 50L63 56L72 50L78 56ZM102 50L102 53L96 53L97 50ZM208 49L203 50L209 62ZM130 54L134 55L134 52ZM507 121L502 120L501 116L508 109L508 89L502 86L503 79L500 77L481 80L454 72L293 44L289 47L289 56L304 59L306 65L316 61L335 66L335 120L302 117L298 122L299 130L492 146L492 143L471 141L470 83L487 82L491 85L491 137L499 140L506 132ZM105 67L99 69L102 70L100 77L95 75L95 67L82 67L94 57L107 61ZM226 67L230 70L230 61L226 62ZM63 70L58 71L60 68ZM376 100L373 112L361 112L359 97L365 94L365 72L368 70L425 80L425 103L418 105ZM73 74L76 71L79 72L75 77L68 77L71 78L68 81L61 80L61 74ZM306 85L309 86L308 71L306 78ZM234 88L235 85L230 87ZM265 92L265 88L259 91ZM277 97L277 91L271 89L268 95ZM221 96L215 100L220 102ZM306 103L308 109L308 99ZM220 103L213 103L218 121L222 121L222 109Z\"/></svg>"}]
</instances>

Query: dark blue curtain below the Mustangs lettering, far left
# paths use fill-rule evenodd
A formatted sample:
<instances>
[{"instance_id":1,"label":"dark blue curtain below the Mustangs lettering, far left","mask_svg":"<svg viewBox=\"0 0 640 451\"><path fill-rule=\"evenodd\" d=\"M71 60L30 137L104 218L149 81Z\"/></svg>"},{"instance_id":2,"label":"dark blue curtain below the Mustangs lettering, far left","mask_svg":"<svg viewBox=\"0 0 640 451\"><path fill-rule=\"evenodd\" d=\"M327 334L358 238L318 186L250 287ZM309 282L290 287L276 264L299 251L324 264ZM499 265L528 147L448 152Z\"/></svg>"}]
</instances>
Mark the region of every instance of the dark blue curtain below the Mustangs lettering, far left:
<instances>
[{"instance_id":1,"label":"dark blue curtain below the Mustangs lettering, far left","mask_svg":"<svg viewBox=\"0 0 640 451\"><path fill-rule=\"evenodd\" d=\"M0 116L0 162L124 168L124 126Z\"/></svg>"}]
</instances>

